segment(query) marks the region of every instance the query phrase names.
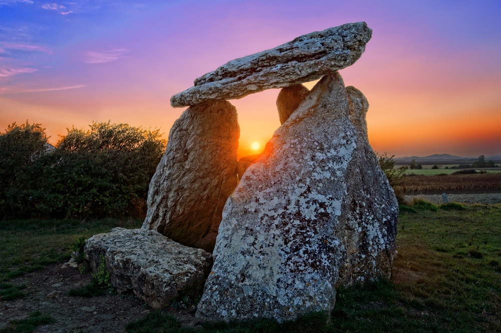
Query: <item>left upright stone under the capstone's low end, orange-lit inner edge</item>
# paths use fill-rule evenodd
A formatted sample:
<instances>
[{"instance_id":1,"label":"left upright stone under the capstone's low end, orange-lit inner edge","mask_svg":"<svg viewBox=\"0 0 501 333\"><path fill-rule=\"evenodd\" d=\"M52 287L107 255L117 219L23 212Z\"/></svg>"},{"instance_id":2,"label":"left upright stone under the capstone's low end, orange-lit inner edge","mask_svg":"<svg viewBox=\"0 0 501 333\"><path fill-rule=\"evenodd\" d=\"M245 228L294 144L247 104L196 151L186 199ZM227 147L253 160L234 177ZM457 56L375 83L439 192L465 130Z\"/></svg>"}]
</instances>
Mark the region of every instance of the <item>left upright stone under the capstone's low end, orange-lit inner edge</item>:
<instances>
[{"instance_id":1,"label":"left upright stone under the capstone's low end, orange-lit inner edge","mask_svg":"<svg viewBox=\"0 0 501 333\"><path fill-rule=\"evenodd\" d=\"M236 110L229 102L186 109L170 130L150 182L142 227L187 246L217 232L237 183L238 137Z\"/></svg>"}]
</instances>

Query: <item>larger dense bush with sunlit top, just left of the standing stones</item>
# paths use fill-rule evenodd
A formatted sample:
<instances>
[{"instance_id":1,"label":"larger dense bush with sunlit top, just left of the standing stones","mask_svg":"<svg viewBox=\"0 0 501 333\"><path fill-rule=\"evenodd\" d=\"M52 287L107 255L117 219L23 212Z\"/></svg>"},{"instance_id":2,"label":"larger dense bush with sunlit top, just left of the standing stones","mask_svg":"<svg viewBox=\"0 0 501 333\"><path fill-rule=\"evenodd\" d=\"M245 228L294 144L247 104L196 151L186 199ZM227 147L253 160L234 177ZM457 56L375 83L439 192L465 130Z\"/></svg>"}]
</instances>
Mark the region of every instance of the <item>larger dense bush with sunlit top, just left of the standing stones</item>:
<instances>
[{"instance_id":1,"label":"larger dense bush with sunlit top, just left of the standing stones","mask_svg":"<svg viewBox=\"0 0 501 333\"><path fill-rule=\"evenodd\" d=\"M68 129L45 170L43 209L58 217L142 215L165 149L160 136L109 121Z\"/></svg>"}]
</instances>

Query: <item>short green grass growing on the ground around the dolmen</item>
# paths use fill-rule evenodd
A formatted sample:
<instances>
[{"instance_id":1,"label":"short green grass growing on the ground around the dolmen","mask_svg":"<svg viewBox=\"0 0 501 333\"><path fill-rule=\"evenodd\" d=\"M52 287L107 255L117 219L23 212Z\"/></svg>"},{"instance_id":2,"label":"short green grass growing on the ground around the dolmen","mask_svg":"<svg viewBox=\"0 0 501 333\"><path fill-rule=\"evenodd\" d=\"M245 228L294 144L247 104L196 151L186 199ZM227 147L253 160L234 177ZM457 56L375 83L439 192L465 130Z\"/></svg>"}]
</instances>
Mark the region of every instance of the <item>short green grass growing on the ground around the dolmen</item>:
<instances>
[{"instance_id":1,"label":"short green grass growing on the ground around the dolmen","mask_svg":"<svg viewBox=\"0 0 501 333\"><path fill-rule=\"evenodd\" d=\"M2 302L26 292L12 278L68 260L80 237L115 226L134 228L140 221L0 222ZM417 201L401 206L393 277L339 288L332 313L311 313L284 323L260 319L188 327L165 311L153 311L128 323L127 331L501 332L500 235L501 205L435 206ZM47 315L39 320L35 313L26 320L51 322ZM52 324L57 327L57 322Z\"/></svg>"}]
</instances>

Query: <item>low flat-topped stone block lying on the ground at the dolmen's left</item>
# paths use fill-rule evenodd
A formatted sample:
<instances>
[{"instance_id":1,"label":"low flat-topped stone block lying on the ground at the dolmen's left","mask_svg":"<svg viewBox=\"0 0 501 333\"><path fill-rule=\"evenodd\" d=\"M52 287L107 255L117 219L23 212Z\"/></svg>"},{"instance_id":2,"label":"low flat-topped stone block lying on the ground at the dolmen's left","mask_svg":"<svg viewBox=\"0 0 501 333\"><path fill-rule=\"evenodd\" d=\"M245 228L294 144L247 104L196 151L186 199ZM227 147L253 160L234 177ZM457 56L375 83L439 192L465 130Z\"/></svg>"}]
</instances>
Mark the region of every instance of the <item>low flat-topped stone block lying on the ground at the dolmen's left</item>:
<instances>
[{"instance_id":1,"label":"low flat-topped stone block lying on the ground at the dolmen's left","mask_svg":"<svg viewBox=\"0 0 501 333\"><path fill-rule=\"evenodd\" d=\"M197 295L212 265L210 253L147 229L114 228L94 235L85 252L94 272L104 255L117 290L133 290L153 308L169 305L179 293Z\"/></svg>"}]
</instances>

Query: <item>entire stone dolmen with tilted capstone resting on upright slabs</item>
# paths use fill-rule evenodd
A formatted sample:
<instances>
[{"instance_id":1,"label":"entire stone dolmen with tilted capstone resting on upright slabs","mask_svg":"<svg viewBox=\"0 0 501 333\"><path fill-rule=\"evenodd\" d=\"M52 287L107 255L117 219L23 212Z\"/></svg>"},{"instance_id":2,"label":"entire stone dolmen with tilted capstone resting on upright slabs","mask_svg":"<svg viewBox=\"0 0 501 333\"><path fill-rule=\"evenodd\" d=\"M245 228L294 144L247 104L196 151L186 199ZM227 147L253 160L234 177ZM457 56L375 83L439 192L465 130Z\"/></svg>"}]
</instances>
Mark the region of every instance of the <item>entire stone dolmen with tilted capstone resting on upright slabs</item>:
<instances>
[{"instance_id":1,"label":"entire stone dolmen with tilted capstone resting on upright slabs","mask_svg":"<svg viewBox=\"0 0 501 333\"><path fill-rule=\"evenodd\" d=\"M185 264L186 276L165 280L169 292L160 292L161 284L141 289L127 283L157 308L176 292L199 292L203 285L195 315L205 320L329 313L336 287L389 278L398 203L369 144L369 103L358 89L345 87L338 72L360 58L371 36L364 22L304 35L232 60L172 96L173 107L188 108L170 130L141 231L128 231L133 237L115 231L141 243L123 240L129 252L137 247L153 256L148 268L120 263L112 253L118 253L118 239L99 246L93 238L103 236L96 235L86 249L99 249L110 271L120 265L131 274L151 271L156 281L158 274L173 276L166 266ZM313 80L319 82L311 91L302 85ZM227 100L272 88L282 88L282 125L263 153L238 162L237 113ZM162 247L178 258L164 257ZM96 262L96 254L88 254ZM194 286L171 292L177 281L188 280Z\"/></svg>"}]
</instances>

